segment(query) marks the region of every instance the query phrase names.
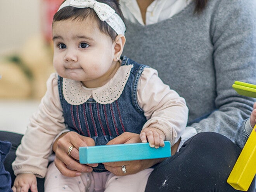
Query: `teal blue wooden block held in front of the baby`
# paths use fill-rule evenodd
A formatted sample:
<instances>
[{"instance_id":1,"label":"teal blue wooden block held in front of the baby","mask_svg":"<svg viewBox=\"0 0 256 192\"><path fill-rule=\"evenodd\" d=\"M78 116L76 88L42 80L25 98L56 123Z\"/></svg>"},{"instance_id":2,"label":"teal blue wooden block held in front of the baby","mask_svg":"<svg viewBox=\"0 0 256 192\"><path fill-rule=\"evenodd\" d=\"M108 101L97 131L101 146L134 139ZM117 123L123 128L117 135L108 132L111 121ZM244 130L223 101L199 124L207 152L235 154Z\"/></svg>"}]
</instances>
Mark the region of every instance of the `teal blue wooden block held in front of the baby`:
<instances>
[{"instance_id":1,"label":"teal blue wooden block held in front of the baby","mask_svg":"<svg viewBox=\"0 0 256 192\"><path fill-rule=\"evenodd\" d=\"M150 147L149 143L79 147L79 161L81 164L158 159L170 156L170 141L165 141L164 147L158 149Z\"/></svg>"}]
</instances>

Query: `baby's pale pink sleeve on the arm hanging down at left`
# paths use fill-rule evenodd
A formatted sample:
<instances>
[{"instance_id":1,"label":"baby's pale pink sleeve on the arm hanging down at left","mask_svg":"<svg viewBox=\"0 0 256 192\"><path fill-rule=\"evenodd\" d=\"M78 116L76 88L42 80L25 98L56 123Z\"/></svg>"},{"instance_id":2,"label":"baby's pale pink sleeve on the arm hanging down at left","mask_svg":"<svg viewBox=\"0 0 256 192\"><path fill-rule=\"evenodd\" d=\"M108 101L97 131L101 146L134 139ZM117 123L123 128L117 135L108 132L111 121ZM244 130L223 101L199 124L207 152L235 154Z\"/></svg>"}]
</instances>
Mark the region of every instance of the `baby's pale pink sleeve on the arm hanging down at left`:
<instances>
[{"instance_id":1,"label":"baby's pale pink sleeve on the arm hanging down at left","mask_svg":"<svg viewBox=\"0 0 256 192\"><path fill-rule=\"evenodd\" d=\"M57 79L57 74L51 74L47 80L47 92L30 118L12 163L15 175L33 173L42 178L46 174L52 141L65 129Z\"/></svg>"}]
</instances>

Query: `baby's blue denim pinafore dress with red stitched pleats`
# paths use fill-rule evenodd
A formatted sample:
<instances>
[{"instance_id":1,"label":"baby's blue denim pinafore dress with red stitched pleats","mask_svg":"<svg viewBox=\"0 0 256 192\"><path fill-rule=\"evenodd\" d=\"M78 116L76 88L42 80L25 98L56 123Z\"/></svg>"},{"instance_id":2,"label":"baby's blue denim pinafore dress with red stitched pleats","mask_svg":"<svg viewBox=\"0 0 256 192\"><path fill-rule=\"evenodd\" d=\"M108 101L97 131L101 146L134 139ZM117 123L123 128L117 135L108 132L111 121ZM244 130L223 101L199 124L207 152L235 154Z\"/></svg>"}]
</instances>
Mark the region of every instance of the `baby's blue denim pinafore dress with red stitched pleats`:
<instances>
[{"instance_id":1,"label":"baby's blue denim pinafore dress with red stitched pleats","mask_svg":"<svg viewBox=\"0 0 256 192\"><path fill-rule=\"evenodd\" d=\"M91 137L95 145L106 145L111 139L128 131L140 133L147 121L138 106L137 86L146 65L121 57L123 65L133 65L120 97L110 104L100 104L93 98L83 104L69 104L63 95L63 78L58 77L58 88L63 109L64 123L70 131ZM93 168L95 172L106 171L103 164Z\"/></svg>"}]
</instances>

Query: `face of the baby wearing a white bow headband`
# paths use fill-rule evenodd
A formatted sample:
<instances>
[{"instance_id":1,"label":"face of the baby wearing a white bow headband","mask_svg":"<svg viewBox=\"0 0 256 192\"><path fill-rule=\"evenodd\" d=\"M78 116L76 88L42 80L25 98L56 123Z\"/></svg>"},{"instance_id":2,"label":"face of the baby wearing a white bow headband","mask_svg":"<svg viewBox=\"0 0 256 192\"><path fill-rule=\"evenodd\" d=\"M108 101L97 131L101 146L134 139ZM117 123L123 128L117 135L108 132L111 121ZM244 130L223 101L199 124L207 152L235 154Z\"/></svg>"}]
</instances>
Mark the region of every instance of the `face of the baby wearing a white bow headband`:
<instances>
[{"instance_id":1,"label":"face of the baby wearing a white bow headband","mask_svg":"<svg viewBox=\"0 0 256 192\"><path fill-rule=\"evenodd\" d=\"M92 19L55 21L53 64L57 73L86 87L104 85L116 69L114 43Z\"/></svg>"}]
</instances>

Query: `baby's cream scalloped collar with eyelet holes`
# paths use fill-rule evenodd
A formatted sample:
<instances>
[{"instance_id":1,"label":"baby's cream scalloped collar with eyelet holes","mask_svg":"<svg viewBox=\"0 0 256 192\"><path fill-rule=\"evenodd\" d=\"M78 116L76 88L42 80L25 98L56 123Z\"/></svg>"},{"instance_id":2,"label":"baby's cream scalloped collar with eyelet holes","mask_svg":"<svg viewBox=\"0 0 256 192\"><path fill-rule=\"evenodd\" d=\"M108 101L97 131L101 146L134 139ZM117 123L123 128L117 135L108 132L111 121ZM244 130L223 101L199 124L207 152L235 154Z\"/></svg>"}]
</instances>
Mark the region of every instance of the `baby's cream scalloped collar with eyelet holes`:
<instances>
[{"instance_id":1,"label":"baby's cream scalloped collar with eyelet holes","mask_svg":"<svg viewBox=\"0 0 256 192\"><path fill-rule=\"evenodd\" d=\"M63 78L64 98L71 105L83 104L91 97L100 104L110 104L122 94L132 67L133 65L120 66L111 80L98 88L86 88L80 81Z\"/></svg>"}]
</instances>

